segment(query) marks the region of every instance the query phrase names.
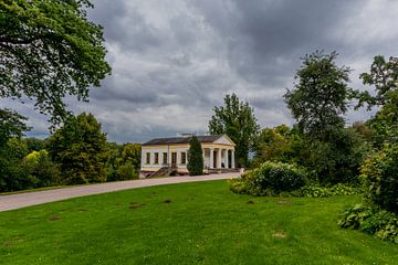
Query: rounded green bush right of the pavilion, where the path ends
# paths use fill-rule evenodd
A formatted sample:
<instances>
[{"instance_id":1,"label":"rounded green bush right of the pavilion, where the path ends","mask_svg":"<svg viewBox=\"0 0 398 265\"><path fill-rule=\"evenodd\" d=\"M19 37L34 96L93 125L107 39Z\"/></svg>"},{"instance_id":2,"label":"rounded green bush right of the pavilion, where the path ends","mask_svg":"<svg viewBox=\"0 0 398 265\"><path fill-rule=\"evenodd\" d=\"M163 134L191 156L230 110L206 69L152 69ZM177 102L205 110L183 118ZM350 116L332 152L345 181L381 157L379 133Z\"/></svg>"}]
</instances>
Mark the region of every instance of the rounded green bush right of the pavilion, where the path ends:
<instances>
[{"instance_id":1,"label":"rounded green bush right of the pavilion, where the path ends","mask_svg":"<svg viewBox=\"0 0 398 265\"><path fill-rule=\"evenodd\" d=\"M253 183L264 195L277 195L305 186L305 173L294 165L264 162L253 170Z\"/></svg>"}]
</instances>

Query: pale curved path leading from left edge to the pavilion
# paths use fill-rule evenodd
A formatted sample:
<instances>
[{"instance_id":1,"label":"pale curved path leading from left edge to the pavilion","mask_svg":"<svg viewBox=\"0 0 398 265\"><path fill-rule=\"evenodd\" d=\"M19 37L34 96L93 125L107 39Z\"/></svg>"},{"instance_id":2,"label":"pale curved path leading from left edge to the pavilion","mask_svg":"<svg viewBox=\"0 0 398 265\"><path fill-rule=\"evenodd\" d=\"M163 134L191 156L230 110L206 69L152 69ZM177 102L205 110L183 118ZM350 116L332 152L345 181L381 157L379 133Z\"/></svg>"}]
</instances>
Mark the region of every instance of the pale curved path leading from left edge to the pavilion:
<instances>
[{"instance_id":1,"label":"pale curved path leading from left edge to the pavilion","mask_svg":"<svg viewBox=\"0 0 398 265\"><path fill-rule=\"evenodd\" d=\"M33 191L19 194L0 195L0 212L66 200L76 197L85 197L91 194L100 194L112 191L136 189L150 186L174 184L185 182L209 181L209 180L222 180L237 178L240 173L221 173L221 174L208 174L200 177L169 177L159 179L140 179L140 180L126 180L111 183L80 186L71 188L62 188L45 191Z\"/></svg>"}]
</instances>

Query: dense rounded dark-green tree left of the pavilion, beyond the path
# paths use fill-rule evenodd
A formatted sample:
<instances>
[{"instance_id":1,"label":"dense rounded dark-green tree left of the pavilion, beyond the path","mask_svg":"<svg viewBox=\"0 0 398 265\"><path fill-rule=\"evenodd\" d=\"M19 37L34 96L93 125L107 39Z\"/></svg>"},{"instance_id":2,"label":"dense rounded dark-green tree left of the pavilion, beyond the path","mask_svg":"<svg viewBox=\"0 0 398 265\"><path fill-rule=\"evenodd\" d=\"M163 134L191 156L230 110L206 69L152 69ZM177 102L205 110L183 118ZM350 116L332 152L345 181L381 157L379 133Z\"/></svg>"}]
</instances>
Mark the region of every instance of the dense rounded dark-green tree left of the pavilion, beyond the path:
<instances>
[{"instance_id":1,"label":"dense rounded dark-green tree left of the pavilion, beyond the path","mask_svg":"<svg viewBox=\"0 0 398 265\"><path fill-rule=\"evenodd\" d=\"M106 135L92 114L71 117L49 139L49 152L60 163L67 184L106 180Z\"/></svg>"}]
</instances>

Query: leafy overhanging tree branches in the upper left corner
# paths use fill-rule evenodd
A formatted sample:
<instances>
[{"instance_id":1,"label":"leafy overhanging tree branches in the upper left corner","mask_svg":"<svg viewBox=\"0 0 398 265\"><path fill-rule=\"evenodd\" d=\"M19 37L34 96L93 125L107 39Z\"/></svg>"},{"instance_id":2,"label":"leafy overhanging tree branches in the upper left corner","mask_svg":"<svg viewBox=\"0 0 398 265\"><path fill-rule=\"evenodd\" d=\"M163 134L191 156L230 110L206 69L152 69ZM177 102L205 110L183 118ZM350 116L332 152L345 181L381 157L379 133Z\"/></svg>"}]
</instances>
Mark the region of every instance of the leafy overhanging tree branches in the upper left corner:
<instances>
[{"instance_id":1,"label":"leafy overhanging tree branches in the upper left corner","mask_svg":"<svg viewBox=\"0 0 398 265\"><path fill-rule=\"evenodd\" d=\"M0 97L28 97L65 117L65 95L87 100L111 72L102 26L86 18L90 0L0 1Z\"/></svg>"}]
</instances>

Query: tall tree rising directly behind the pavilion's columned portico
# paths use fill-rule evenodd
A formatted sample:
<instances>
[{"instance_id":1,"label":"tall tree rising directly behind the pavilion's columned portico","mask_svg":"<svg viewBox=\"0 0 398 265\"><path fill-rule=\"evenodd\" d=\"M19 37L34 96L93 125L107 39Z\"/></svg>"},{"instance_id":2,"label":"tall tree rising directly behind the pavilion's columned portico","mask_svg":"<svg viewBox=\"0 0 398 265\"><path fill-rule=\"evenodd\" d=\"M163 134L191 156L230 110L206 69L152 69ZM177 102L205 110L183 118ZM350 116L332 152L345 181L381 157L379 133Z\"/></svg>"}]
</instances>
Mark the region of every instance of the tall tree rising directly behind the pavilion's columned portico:
<instances>
[{"instance_id":1,"label":"tall tree rising directly behind the pavilion's columned portico","mask_svg":"<svg viewBox=\"0 0 398 265\"><path fill-rule=\"evenodd\" d=\"M232 94L224 97L224 106L214 107L213 112L209 121L209 132L227 134L237 144L238 167L247 167L249 151L260 129L253 108L249 106L249 103L240 102L238 96Z\"/></svg>"}]
</instances>

